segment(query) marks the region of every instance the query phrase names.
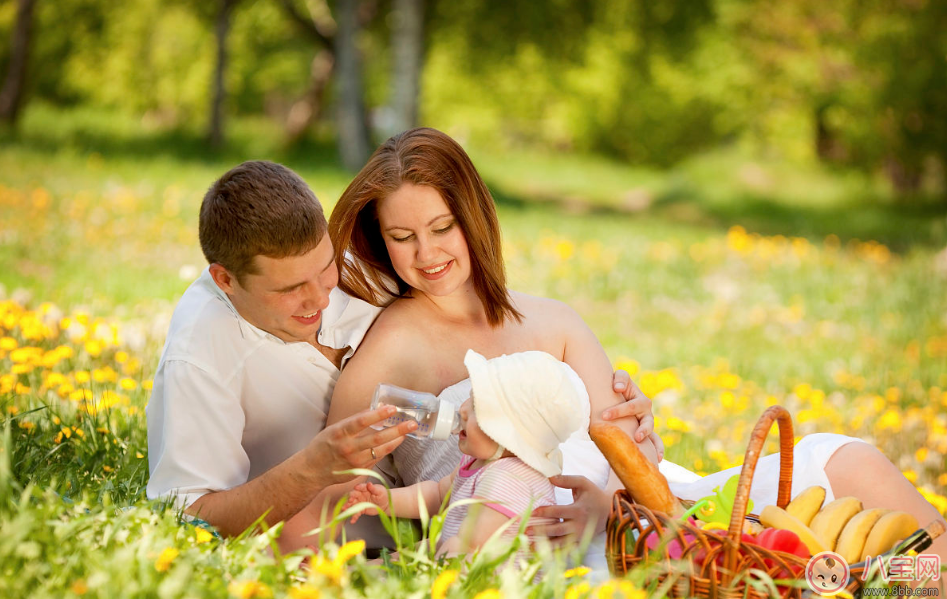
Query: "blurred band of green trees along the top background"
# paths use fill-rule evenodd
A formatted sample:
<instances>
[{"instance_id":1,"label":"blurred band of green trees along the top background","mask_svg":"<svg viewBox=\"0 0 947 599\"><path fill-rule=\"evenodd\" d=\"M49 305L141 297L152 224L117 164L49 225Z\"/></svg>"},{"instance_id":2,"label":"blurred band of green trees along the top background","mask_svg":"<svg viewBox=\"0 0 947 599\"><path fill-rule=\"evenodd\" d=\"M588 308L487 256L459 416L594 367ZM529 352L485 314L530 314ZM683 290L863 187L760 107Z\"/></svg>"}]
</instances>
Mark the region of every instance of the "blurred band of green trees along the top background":
<instances>
[{"instance_id":1,"label":"blurred band of green trees along the top background","mask_svg":"<svg viewBox=\"0 0 947 599\"><path fill-rule=\"evenodd\" d=\"M415 124L655 167L739 145L943 202L944 31L938 0L3 0L0 118L92 105L226 146L266 115L349 169Z\"/></svg>"}]
</instances>

